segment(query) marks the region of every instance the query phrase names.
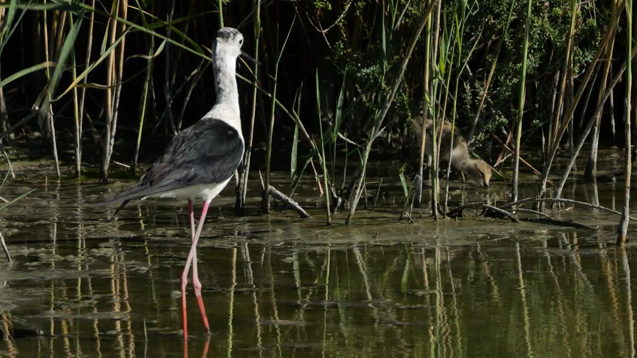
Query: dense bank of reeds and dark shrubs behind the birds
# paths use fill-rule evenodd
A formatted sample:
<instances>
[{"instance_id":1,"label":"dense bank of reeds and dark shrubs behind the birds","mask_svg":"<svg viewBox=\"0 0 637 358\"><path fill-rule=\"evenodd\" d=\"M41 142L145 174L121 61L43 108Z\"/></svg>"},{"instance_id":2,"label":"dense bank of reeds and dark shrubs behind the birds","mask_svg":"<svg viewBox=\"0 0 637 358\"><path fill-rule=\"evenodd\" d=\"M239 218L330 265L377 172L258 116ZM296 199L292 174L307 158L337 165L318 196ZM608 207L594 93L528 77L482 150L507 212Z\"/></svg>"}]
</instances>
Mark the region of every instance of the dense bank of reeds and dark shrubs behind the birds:
<instances>
[{"instance_id":1,"label":"dense bank of reeds and dark shrubs behind the birds","mask_svg":"<svg viewBox=\"0 0 637 358\"><path fill-rule=\"evenodd\" d=\"M403 154L399 166L407 169L396 173L403 213L409 217L407 206L421 204L431 178L437 219L442 174L440 214L447 215L450 166L439 165L438 149L444 138L453 141L440 135L451 124L495 178L512 180L510 201L519 199L520 171L537 176L536 213L545 203L539 199L559 199L583 145L590 146L588 180L596 177L600 143L626 148L617 239L623 243L637 129L631 6L631 0L0 0L1 138L30 143L35 157L53 159L58 178L99 168L106 183L111 164L141 175L138 162L152 159L213 103L210 43L227 25L243 32L243 49L259 61L238 66L247 135L236 176L238 213L248 178L259 178L255 169L265 171L263 212L271 210L275 190L271 171L289 170L290 198L301 178L309 179L325 196L327 224L345 210L351 222L361 197L378 197L368 191L376 183L366 182L370 158ZM414 138L414 120L422 128L433 120L431 160L424 132ZM523 147L541 153L541 168L520 156ZM259 160L251 160L257 152ZM558 152L571 158L566 170L552 168ZM289 168L274 160L282 156L290 157ZM64 173L61 161L73 163L73 173ZM512 208L506 212L515 217Z\"/></svg>"}]
</instances>

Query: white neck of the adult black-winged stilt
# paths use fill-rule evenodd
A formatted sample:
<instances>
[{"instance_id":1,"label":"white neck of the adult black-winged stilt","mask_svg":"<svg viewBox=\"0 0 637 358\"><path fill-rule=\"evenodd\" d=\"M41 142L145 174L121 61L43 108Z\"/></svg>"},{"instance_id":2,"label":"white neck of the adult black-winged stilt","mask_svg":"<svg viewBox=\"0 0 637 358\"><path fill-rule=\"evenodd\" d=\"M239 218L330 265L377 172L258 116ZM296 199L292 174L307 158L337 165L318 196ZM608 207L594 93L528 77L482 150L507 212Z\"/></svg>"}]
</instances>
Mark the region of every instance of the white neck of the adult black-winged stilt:
<instances>
[{"instance_id":1,"label":"white neck of the adult black-winged stilt","mask_svg":"<svg viewBox=\"0 0 637 358\"><path fill-rule=\"evenodd\" d=\"M224 120L241 133L239 92L236 80L236 56L218 53L213 62L217 103L206 117Z\"/></svg>"}]
</instances>

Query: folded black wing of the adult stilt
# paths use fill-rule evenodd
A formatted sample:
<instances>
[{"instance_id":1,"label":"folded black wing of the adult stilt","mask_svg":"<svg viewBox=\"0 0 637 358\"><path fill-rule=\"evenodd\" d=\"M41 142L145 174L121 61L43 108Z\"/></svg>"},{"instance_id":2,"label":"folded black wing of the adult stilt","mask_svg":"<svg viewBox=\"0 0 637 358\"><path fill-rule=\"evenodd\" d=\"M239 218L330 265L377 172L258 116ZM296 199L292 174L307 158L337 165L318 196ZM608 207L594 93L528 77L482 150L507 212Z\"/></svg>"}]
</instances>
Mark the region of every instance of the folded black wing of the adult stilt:
<instances>
[{"instance_id":1,"label":"folded black wing of the adult stilt","mask_svg":"<svg viewBox=\"0 0 637 358\"><path fill-rule=\"evenodd\" d=\"M180 189L196 184L221 183L230 178L243 157L243 138L223 120L202 118L177 134L140 183L102 204ZM118 210L119 210L118 209Z\"/></svg>"}]
</instances>

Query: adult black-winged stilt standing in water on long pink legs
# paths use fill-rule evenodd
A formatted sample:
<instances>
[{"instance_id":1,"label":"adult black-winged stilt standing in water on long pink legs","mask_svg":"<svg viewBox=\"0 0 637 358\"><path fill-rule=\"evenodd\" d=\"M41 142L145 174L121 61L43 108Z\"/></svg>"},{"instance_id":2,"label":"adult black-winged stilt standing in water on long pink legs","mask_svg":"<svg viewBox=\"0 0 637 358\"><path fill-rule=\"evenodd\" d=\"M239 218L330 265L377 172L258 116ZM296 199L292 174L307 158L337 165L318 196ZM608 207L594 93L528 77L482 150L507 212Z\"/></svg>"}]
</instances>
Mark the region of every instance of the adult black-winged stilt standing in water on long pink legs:
<instances>
[{"instance_id":1,"label":"adult black-winged stilt standing in water on long pink legs","mask_svg":"<svg viewBox=\"0 0 637 358\"><path fill-rule=\"evenodd\" d=\"M188 335L185 290L190 262L192 262L192 285L195 296L204 326L208 333L210 332L201 299L201 282L197 275L197 241L210 201L224 189L243 157L244 142L243 134L241 134L239 93L235 76L236 59L243 54L242 44L243 35L236 29L224 27L218 30L212 46L217 103L198 122L173 138L166 152L152 164L135 187L124 190L103 203L122 201L115 211L117 214L133 199L188 198L192 243L181 278L184 340ZM199 224L195 229L192 206L196 198L203 199L204 203Z\"/></svg>"}]
</instances>

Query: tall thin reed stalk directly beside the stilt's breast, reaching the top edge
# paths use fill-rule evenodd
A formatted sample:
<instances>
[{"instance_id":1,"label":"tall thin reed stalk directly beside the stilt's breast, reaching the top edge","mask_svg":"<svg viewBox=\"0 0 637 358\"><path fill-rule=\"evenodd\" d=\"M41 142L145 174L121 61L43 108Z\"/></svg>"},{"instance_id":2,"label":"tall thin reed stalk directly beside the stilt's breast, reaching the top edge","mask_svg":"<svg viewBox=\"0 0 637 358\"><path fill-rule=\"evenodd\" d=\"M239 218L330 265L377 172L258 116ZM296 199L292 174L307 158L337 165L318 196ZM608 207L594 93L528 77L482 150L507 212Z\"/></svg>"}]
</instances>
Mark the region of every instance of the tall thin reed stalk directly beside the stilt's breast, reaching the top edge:
<instances>
[{"instance_id":1,"label":"tall thin reed stalk directly beside the stilt's breast, reaching the top edge","mask_svg":"<svg viewBox=\"0 0 637 358\"><path fill-rule=\"evenodd\" d=\"M250 131L248 132L248 145L243 155L243 169L239 180L238 193L234 204L235 210L243 212L245 199L248 192L248 176L250 175L250 157L252 156L252 141L254 140L254 118L257 113L257 80L259 79L259 38L261 37L261 0L254 0L254 79L252 80L252 108L250 109Z\"/></svg>"}]
</instances>

